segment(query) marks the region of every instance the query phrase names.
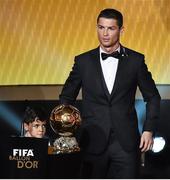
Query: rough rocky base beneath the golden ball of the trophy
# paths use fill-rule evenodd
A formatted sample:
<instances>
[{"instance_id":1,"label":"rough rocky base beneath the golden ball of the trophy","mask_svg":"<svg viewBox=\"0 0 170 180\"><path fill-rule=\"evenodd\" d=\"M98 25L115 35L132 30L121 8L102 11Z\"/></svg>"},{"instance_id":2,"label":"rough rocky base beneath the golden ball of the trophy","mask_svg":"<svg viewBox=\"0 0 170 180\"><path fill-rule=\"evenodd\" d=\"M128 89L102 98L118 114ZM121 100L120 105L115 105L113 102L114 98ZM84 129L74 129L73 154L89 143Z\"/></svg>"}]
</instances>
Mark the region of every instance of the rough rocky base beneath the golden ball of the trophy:
<instances>
[{"instance_id":1,"label":"rough rocky base beneath the golden ball of the trophy","mask_svg":"<svg viewBox=\"0 0 170 180\"><path fill-rule=\"evenodd\" d=\"M53 147L49 148L50 154L74 153L79 151L80 148L75 137L61 136L54 141Z\"/></svg>"}]
</instances>

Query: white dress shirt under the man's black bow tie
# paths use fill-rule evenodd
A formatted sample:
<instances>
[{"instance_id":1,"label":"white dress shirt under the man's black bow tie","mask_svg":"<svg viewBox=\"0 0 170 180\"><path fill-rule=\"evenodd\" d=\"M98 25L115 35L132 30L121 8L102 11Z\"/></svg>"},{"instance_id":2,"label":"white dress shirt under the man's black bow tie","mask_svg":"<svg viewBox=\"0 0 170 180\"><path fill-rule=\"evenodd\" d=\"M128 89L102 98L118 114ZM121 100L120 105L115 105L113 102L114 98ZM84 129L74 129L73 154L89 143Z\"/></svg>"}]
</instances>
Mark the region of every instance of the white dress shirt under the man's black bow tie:
<instances>
[{"instance_id":1,"label":"white dress shirt under the man's black bow tie","mask_svg":"<svg viewBox=\"0 0 170 180\"><path fill-rule=\"evenodd\" d=\"M120 52L120 46L118 47L116 51ZM114 57L108 57L106 60L102 60L101 53L107 54L107 52L103 51L103 49L100 47L100 64L102 67L102 72L103 72L106 86L108 88L109 93L111 94L114 83L115 83L119 59L114 58Z\"/></svg>"}]
</instances>

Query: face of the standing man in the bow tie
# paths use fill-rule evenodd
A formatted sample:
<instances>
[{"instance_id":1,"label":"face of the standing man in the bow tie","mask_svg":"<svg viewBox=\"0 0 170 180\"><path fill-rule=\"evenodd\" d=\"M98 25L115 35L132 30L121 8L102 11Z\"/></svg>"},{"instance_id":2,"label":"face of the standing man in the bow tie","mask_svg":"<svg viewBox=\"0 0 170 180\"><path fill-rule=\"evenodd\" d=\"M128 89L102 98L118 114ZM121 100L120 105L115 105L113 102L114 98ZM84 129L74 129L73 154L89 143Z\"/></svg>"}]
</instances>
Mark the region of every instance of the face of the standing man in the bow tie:
<instances>
[{"instance_id":1,"label":"face of the standing man in the bow tie","mask_svg":"<svg viewBox=\"0 0 170 180\"><path fill-rule=\"evenodd\" d=\"M123 27L119 28L117 20L99 18L97 24L97 34L101 47L110 48L119 44L120 34L123 32Z\"/></svg>"}]
</instances>

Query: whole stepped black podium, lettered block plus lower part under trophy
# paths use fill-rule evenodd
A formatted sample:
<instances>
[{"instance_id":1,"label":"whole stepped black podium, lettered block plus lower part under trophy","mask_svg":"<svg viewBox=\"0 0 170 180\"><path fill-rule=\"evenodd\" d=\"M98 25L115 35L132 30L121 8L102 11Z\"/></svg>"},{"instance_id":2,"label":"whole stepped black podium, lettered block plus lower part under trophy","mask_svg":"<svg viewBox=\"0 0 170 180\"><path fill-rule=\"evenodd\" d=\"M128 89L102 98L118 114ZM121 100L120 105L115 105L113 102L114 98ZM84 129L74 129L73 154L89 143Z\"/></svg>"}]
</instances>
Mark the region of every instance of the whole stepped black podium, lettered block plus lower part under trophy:
<instances>
[{"instance_id":1,"label":"whole stepped black podium, lettered block plus lower part under trophy","mask_svg":"<svg viewBox=\"0 0 170 180\"><path fill-rule=\"evenodd\" d=\"M48 154L48 139L0 138L0 178L80 178L81 153Z\"/></svg>"}]
</instances>

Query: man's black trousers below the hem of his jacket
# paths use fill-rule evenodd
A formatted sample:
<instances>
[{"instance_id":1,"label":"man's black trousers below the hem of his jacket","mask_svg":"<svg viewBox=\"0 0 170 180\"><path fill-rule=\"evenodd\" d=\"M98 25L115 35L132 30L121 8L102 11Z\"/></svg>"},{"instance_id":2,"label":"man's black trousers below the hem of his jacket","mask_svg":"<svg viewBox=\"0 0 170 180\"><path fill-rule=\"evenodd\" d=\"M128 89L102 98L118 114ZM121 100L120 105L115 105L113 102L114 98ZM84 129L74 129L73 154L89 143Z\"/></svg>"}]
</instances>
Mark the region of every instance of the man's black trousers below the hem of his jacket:
<instances>
[{"instance_id":1,"label":"man's black trousers below the hem of his jacket","mask_svg":"<svg viewBox=\"0 0 170 180\"><path fill-rule=\"evenodd\" d=\"M139 178L139 151L126 152L113 136L106 151L100 155L84 154L81 178Z\"/></svg>"}]
</instances>

